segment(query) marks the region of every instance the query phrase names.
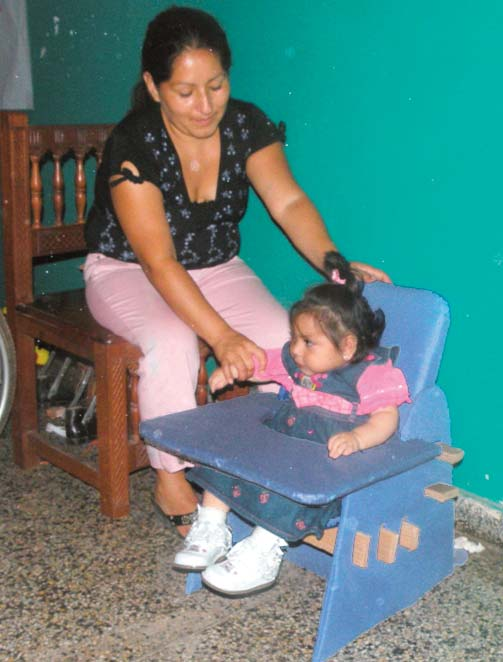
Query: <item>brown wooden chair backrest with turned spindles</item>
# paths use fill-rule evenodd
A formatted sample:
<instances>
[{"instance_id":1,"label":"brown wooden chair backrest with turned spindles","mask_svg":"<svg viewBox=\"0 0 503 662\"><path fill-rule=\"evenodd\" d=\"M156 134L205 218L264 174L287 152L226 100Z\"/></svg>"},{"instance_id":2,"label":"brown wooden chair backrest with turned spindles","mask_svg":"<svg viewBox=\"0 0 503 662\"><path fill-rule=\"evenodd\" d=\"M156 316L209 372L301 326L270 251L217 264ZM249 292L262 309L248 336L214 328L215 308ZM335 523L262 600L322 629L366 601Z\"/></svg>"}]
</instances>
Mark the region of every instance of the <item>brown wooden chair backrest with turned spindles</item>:
<instances>
[{"instance_id":1,"label":"brown wooden chair backrest with turned spindles","mask_svg":"<svg viewBox=\"0 0 503 662\"><path fill-rule=\"evenodd\" d=\"M85 164L89 157L99 164L111 129L107 124L29 126L25 113L0 113L8 310L33 301L34 262L85 251ZM68 208L65 184L74 189Z\"/></svg>"}]
</instances>

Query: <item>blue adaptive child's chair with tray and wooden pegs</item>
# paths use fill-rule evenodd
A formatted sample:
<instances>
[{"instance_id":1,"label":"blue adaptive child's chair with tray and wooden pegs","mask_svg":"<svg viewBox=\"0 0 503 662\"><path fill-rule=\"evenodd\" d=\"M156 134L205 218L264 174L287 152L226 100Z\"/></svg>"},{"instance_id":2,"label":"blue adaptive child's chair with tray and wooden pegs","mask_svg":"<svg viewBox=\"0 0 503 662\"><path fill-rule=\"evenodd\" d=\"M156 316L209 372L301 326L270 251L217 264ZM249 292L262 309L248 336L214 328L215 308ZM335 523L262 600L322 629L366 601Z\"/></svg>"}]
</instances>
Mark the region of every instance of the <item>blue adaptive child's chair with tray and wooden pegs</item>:
<instances>
[{"instance_id":1,"label":"blue adaptive child's chair with tray and wooden pegs","mask_svg":"<svg viewBox=\"0 0 503 662\"><path fill-rule=\"evenodd\" d=\"M262 425L281 403L257 393L146 421L149 444L253 481L308 504L342 497L342 512L321 540L308 536L287 558L326 578L313 660L325 660L359 634L412 605L454 567L449 412L435 384L449 326L438 295L383 283L365 288L382 308L382 344L398 345L411 404L400 408L401 441L331 460L321 444ZM249 525L232 515L234 542ZM187 592L200 586L191 574Z\"/></svg>"}]
</instances>

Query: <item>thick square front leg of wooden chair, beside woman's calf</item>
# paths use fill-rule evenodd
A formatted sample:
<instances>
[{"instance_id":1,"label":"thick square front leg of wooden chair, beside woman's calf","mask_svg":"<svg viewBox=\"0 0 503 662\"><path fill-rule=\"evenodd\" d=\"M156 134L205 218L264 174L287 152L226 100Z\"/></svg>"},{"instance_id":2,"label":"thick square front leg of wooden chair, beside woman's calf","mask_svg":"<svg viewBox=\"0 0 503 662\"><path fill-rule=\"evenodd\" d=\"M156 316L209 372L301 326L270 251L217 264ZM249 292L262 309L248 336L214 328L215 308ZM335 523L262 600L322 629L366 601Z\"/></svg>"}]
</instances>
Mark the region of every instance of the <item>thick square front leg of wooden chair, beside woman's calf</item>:
<instances>
[{"instance_id":1,"label":"thick square front leg of wooden chair, beside woman's calf","mask_svg":"<svg viewBox=\"0 0 503 662\"><path fill-rule=\"evenodd\" d=\"M129 514L127 368L120 347L96 345L96 403L101 512Z\"/></svg>"}]
</instances>

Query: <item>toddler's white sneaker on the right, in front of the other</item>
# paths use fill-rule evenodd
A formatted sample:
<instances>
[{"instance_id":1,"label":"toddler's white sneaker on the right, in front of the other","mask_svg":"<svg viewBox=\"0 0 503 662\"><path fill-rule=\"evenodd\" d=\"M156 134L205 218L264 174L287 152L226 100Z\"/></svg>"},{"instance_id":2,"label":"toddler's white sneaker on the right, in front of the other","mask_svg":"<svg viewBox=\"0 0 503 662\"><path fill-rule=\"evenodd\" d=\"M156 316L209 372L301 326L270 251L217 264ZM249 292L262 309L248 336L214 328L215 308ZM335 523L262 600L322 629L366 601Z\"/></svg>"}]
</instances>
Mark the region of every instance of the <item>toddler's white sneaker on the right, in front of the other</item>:
<instances>
[{"instance_id":1,"label":"toddler's white sneaker on the right, in front of the other","mask_svg":"<svg viewBox=\"0 0 503 662\"><path fill-rule=\"evenodd\" d=\"M276 582L287 543L269 534L264 544L254 533L234 545L224 561L206 568L201 578L207 586L227 595L249 595Z\"/></svg>"}]
</instances>

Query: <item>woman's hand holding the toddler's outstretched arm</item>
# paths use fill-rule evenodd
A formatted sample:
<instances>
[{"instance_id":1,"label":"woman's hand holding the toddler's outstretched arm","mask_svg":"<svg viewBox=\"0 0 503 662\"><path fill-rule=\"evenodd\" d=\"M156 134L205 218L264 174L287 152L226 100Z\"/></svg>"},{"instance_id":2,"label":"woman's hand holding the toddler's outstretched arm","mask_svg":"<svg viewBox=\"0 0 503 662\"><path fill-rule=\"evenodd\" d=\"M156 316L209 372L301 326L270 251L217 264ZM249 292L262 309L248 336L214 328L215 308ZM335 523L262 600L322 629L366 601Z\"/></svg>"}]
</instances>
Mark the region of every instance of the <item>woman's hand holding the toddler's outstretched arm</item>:
<instances>
[{"instance_id":1,"label":"woman's hand holding the toddler's outstretched arm","mask_svg":"<svg viewBox=\"0 0 503 662\"><path fill-rule=\"evenodd\" d=\"M264 370L267 363L266 353L261 347L232 329L213 343L212 349L220 363L219 388L233 384L236 380L243 382L249 379L255 371L253 357L258 361L259 370Z\"/></svg>"}]
</instances>

